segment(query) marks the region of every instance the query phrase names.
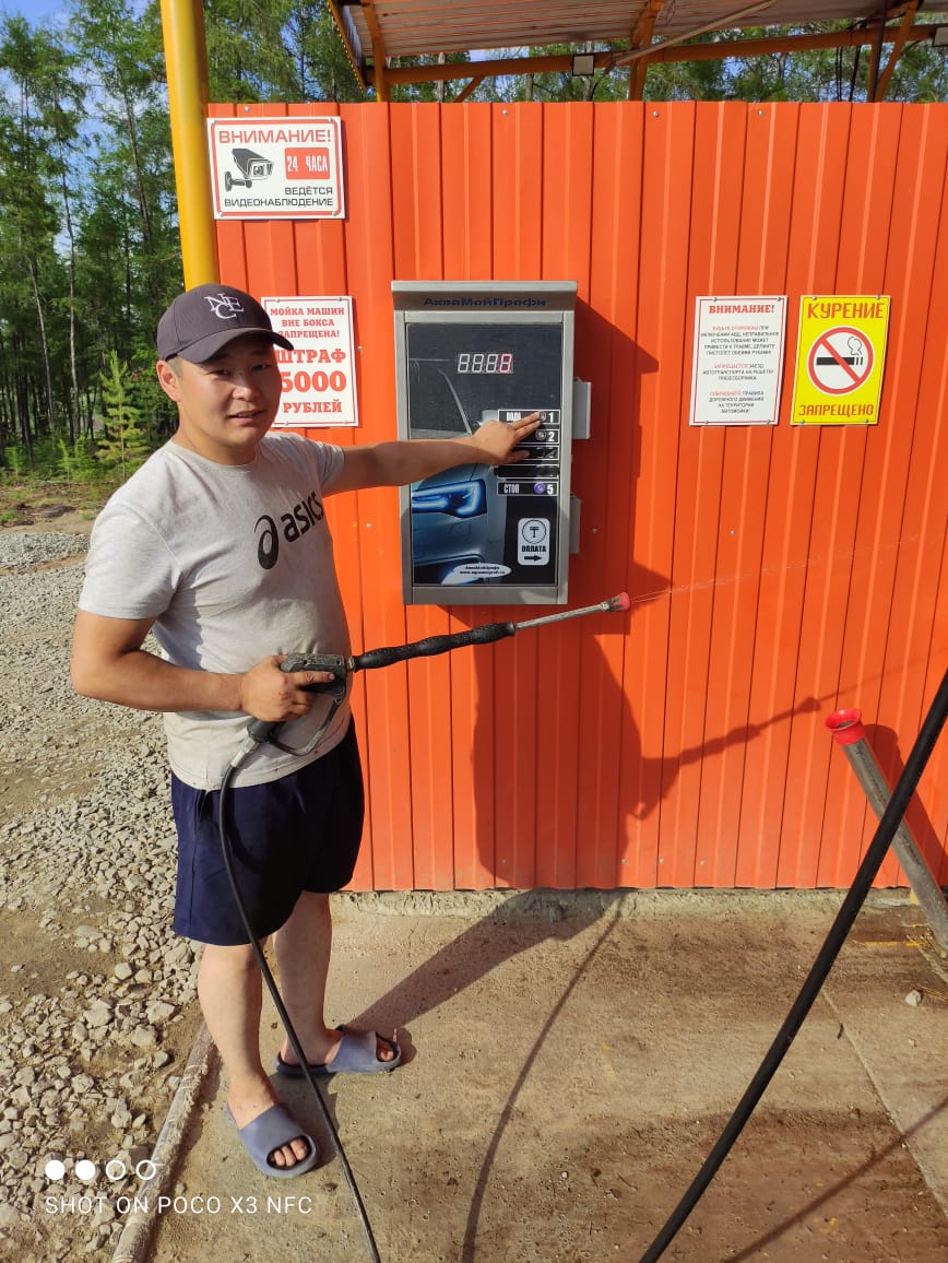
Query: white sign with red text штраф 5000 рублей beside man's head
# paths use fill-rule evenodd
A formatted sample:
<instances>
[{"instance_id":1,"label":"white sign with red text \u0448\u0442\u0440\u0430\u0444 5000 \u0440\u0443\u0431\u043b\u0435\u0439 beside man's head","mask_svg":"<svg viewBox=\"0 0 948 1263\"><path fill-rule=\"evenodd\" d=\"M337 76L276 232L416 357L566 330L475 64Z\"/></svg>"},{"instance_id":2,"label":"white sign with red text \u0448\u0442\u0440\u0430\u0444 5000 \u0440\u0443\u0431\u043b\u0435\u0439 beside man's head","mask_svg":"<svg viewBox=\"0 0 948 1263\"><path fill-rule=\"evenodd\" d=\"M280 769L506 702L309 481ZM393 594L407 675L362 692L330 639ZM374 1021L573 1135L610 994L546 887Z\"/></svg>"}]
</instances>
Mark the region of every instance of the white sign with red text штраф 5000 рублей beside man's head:
<instances>
[{"instance_id":1,"label":"white sign with red text \u0448\u0442\u0440\u0430\u0444 5000 \u0440\u0443\u0431\u043b\u0435\u0439 beside man's head","mask_svg":"<svg viewBox=\"0 0 948 1263\"><path fill-rule=\"evenodd\" d=\"M357 426L352 299L261 298L274 330L293 342L274 347L283 378L274 429Z\"/></svg>"}]
</instances>

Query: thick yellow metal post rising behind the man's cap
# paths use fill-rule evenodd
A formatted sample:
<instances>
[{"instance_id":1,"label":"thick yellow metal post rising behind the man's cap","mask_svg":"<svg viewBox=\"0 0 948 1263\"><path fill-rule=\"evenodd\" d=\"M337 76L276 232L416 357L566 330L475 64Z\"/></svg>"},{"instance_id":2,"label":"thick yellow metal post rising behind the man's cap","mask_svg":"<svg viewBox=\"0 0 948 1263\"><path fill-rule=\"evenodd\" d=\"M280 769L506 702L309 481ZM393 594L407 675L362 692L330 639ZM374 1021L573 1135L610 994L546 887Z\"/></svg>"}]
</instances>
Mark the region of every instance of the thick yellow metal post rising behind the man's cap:
<instances>
[{"instance_id":1,"label":"thick yellow metal post rising behind the man's cap","mask_svg":"<svg viewBox=\"0 0 948 1263\"><path fill-rule=\"evenodd\" d=\"M184 285L220 280L207 153L207 45L201 0L162 0Z\"/></svg>"}]
</instances>

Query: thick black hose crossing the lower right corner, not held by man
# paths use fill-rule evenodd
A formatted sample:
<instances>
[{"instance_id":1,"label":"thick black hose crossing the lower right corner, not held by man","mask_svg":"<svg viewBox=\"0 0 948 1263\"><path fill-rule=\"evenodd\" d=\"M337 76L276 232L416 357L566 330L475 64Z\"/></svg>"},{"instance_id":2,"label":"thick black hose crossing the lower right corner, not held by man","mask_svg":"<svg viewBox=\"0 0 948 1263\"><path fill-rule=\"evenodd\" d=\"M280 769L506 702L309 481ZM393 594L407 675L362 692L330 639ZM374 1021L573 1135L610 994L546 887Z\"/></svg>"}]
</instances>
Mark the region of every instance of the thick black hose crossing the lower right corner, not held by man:
<instances>
[{"instance_id":1,"label":"thick black hose crossing the lower right corner, not held by man","mask_svg":"<svg viewBox=\"0 0 948 1263\"><path fill-rule=\"evenodd\" d=\"M679 1228L694 1210L702 1194L714 1178L718 1167L731 1152L731 1148L737 1140L737 1137L741 1134L745 1123L754 1113L754 1109L760 1098L764 1095L767 1084L776 1074L776 1070L784 1060L794 1037L803 1026L804 1018L813 1007L813 1003L819 994L819 989L826 981L836 957L839 955L846 936L850 930L852 930L852 925L860 908L866 902L866 895L868 894L872 882L881 868L882 860L885 859L892 837L895 836L895 831L908 810L911 796L915 793L915 787L919 783L921 773L925 770L925 765L932 755L932 750L935 746L938 735L944 726L945 717L948 717L948 672L945 672L942 679L942 685L935 693L928 715L925 716L921 731L919 733L915 744L909 753L909 758L905 762L903 774L896 781L892 796L882 812L881 820L879 821L875 836L872 837L868 850L856 871L856 878L848 894L843 899L843 903L836 916L836 921L827 935L826 942L817 955L813 969L800 989L800 994L794 1000L793 1007L786 1015L786 1021L780 1027L776 1038L770 1046L764 1061L760 1063L757 1072L747 1086L747 1090L741 1098L737 1108L728 1119L725 1130L721 1133L711 1153L704 1159L704 1164L692 1181L685 1195L669 1215L658 1236L643 1254L640 1263L655 1263L655 1260L661 1258L665 1249L672 1244L672 1240Z\"/></svg>"}]
</instances>

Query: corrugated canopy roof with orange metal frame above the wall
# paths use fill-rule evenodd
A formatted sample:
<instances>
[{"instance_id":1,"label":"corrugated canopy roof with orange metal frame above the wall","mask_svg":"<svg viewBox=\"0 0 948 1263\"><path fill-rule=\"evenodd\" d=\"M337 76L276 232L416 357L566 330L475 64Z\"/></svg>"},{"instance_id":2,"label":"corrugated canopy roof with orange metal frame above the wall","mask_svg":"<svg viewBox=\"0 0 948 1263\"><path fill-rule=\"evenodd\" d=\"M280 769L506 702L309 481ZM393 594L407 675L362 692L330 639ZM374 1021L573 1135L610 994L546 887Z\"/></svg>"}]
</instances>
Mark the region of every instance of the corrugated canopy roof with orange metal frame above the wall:
<instances>
[{"instance_id":1,"label":"corrugated canopy roof with orange metal frame above the wall","mask_svg":"<svg viewBox=\"0 0 948 1263\"><path fill-rule=\"evenodd\" d=\"M906 42L948 34L919 16L924 0L329 0L336 24L364 86L381 100L391 83L470 80L462 100L492 75L571 69L591 73L630 67L630 96L641 95L648 62L751 57L778 51L870 44L875 61L870 95L881 100ZM929 0L929 9L945 6ZM944 19L948 23L948 18ZM815 24L847 29L814 32ZM765 38L688 43L708 30L799 28ZM938 33L938 34L937 34ZM573 57L531 57L549 44L587 45L592 63ZM882 64L884 44L890 44ZM620 47L621 45L621 47ZM476 53L463 64L396 66L404 57ZM880 91L881 88L881 91Z\"/></svg>"}]
</instances>

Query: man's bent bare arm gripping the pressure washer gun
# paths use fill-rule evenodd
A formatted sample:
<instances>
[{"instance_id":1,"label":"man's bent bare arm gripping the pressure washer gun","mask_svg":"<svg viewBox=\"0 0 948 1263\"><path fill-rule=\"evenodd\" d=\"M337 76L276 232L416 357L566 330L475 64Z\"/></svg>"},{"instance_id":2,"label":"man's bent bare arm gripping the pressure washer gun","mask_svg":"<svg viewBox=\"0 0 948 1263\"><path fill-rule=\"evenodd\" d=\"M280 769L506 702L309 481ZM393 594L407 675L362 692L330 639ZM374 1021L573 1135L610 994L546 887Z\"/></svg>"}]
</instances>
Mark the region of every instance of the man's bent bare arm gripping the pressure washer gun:
<instances>
[{"instance_id":1,"label":"man's bent bare arm gripping the pressure washer gun","mask_svg":"<svg viewBox=\"0 0 948 1263\"><path fill-rule=\"evenodd\" d=\"M143 649L154 619L111 619L80 610L69 673L77 693L151 711L242 711L269 722L298 719L316 703L304 685L329 672L279 669L275 654L242 674L175 667Z\"/></svg>"}]
</instances>

